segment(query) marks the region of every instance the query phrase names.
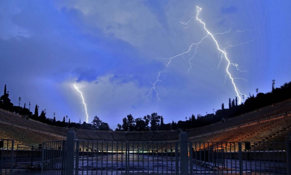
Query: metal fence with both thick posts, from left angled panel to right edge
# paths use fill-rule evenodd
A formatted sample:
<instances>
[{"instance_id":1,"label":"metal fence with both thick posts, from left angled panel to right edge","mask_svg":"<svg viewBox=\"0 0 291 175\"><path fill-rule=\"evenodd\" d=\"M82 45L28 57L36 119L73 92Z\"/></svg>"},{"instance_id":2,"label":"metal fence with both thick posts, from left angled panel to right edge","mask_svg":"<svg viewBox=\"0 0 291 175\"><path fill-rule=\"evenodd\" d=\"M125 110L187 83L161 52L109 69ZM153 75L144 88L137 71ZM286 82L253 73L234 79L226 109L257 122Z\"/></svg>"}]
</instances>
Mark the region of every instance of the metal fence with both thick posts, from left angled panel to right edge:
<instances>
[{"instance_id":1,"label":"metal fence with both thick posts, from left angled panel to right edge","mask_svg":"<svg viewBox=\"0 0 291 175\"><path fill-rule=\"evenodd\" d=\"M290 174L290 139L281 142L85 141L43 144L42 174Z\"/></svg>"}]
</instances>

